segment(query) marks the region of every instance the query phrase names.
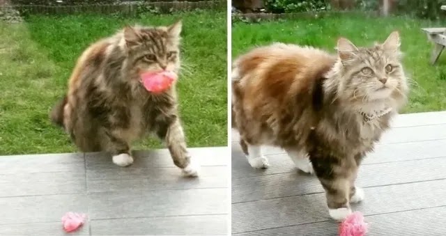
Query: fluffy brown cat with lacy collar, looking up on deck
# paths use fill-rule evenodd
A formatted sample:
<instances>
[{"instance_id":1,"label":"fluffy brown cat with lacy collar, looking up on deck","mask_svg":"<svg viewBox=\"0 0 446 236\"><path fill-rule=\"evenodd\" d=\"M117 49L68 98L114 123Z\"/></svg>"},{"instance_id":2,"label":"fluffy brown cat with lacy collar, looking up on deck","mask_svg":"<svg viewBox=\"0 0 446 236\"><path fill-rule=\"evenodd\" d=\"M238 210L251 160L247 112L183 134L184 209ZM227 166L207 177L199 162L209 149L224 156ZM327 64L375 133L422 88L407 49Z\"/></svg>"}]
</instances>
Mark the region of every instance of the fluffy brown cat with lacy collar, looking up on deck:
<instances>
[{"instance_id":1,"label":"fluffy brown cat with lacy collar, looking up on deck","mask_svg":"<svg viewBox=\"0 0 446 236\"><path fill-rule=\"evenodd\" d=\"M316 173L330 217L343 220L364 198L357 170L407 103L397 31L374 47L337 41L337 54L274 43L236 58L233 128L254 168L267 168L261 145L283 148L295 166Z\"/></svg>"}]
</instances>

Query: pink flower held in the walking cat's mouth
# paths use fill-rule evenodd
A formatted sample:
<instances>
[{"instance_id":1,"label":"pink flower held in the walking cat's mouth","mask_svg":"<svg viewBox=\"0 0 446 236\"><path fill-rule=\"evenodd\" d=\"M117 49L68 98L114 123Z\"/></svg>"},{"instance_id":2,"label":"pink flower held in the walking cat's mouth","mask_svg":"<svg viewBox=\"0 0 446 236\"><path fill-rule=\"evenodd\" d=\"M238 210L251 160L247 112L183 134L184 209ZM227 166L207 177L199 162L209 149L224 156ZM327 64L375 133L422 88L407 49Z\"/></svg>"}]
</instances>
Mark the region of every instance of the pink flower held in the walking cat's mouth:
<instances>
[{"instance_id":1,"label":"pink flower held in the walking cat's mouth","mask_svg":"<svg viewBox=\"0 0 446 236\"><path fill-rule=\"evenodd\" d=\"M172 71L144 72L140 74L141 84L147 91L152 93L162 93L171 87L177 79L177 75Z\"/></svg>"}]
</instances>

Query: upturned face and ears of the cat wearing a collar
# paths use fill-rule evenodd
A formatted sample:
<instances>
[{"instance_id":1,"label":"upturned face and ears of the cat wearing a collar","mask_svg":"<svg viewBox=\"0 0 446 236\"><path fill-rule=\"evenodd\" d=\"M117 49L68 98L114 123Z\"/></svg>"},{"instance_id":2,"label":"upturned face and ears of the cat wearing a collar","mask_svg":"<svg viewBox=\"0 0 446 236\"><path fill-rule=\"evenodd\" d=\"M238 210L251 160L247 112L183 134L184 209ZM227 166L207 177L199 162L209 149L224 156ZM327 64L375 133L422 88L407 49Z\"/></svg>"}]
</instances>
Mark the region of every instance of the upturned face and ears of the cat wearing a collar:
<instances>
[{"instance_id":1,"label":"upturned face and ears of the cat wearing a collar","mask_svg":"<svg viewBox=\"0 0 446 236\"><path fill-rule=\"evenodd\" d=\"M357 48L350 41L338 41L342 93L353 100L384 100L406 83L399 58L399 34L394 32L383 44L371 48Z\"/></svg>"}]
</instances>

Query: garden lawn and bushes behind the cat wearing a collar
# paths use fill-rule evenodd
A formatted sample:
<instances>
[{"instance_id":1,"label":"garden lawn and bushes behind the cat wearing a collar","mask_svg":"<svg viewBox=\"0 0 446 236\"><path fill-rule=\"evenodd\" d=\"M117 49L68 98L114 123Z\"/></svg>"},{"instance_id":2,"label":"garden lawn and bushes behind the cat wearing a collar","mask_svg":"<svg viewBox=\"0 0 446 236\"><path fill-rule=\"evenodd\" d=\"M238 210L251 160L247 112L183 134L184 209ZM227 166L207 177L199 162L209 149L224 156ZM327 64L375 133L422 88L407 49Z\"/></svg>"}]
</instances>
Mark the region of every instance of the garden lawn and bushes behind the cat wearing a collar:
<instances>
[{"instance_id":1,"label":"garden lawn and bushes behind the cat wearing a collar","mask_svg":"<svg viewBox=\"0 0 446 236\"><path fill-rule=\"evenodd\" d=\"M267 0L266 13L259 13L259 17L233 14L232 57L272 42L311 45L334 53L341 36L355 45L369 46L397 30L411 86L403 113L446 110L446 55L431 65L433 44L422 31L446 27L445 10L440 10L446 1L398 1L390 6L387 16L381 13L379 1L355 1L344 6L332 2ZM268 13L275 19L262 17Z\"/></svg>"}]
</instances>

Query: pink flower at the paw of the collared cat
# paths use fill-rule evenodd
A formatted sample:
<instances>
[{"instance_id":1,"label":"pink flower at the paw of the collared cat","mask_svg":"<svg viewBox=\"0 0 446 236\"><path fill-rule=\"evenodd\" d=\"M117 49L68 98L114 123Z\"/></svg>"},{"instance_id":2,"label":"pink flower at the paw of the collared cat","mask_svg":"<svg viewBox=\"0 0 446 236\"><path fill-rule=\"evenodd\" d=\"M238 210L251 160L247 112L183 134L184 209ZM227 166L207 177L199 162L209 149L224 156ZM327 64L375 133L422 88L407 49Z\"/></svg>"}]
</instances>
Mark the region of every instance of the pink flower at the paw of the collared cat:
<instances>
[{"instance_id":1,"label":"pink flower at the paw of the collared cat","mask_svg":"<svg viewBox=\"0 0 446 236\"><path fill-rule=\"evenodd\" d=\"M340 236L364 236L368 224L364 222L361 212L353 212L339 226Z\"/></svg>"}]
</instances>

